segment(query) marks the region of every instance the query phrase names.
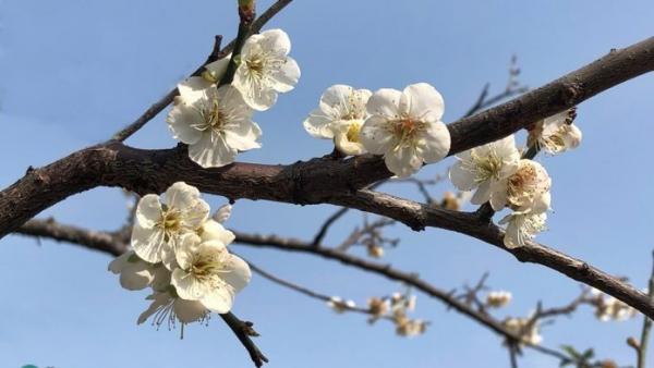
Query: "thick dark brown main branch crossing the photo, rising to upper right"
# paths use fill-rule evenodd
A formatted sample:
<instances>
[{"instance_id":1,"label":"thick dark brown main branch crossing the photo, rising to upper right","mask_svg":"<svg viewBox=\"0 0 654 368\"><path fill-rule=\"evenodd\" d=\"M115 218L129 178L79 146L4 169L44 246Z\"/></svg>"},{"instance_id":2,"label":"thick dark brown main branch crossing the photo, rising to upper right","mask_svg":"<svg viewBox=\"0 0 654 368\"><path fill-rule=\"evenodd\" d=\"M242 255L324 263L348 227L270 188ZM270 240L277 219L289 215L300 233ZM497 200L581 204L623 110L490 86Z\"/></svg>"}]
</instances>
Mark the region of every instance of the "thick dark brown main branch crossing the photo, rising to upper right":
<instances>
[{"instance_id":1,"label":"thick dark brown main branch crossing the photo, rising to upper right","mask_svg":"<svg viewBox=\"0 0 654 368\"><path fill-rule=\"evenodd\" d=\"M654 70L654 37L449 125L450 155L511 134L629 78ZM0 236L51 205L96 186L121 186L144 194L162 192L177 181L232 199L268 199L293 204L344 205L335 197L387 179L378 157L314 159L290 165L234 163L203 170L186 149L140 150L110 143L80 150L45 168L31 170L0 193ZM337 197L338 198L338 197Z\"/></svg>"}]
</instances>

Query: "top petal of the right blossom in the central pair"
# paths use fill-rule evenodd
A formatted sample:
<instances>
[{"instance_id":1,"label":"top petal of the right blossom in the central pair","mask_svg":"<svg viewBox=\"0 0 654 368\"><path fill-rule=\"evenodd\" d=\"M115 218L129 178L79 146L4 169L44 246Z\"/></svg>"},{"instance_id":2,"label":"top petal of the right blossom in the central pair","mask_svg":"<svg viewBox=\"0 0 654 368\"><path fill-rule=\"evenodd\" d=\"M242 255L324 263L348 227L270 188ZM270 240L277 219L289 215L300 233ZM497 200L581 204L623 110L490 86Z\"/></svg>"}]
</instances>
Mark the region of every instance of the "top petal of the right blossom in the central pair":
<instances>
[{"instance_id":1,"label":"top petal of the right blossom in the central pair","mask_svg":"<svg viewBox=\"0 0 654 368\"><path fill-rule=\"evenodd\" d=\"M429 120L439 121L445 111L445 102L436 88L426 83L416 83L404 88L401 111L413 118L429 116Z\"/></svg>"}]
</instances>

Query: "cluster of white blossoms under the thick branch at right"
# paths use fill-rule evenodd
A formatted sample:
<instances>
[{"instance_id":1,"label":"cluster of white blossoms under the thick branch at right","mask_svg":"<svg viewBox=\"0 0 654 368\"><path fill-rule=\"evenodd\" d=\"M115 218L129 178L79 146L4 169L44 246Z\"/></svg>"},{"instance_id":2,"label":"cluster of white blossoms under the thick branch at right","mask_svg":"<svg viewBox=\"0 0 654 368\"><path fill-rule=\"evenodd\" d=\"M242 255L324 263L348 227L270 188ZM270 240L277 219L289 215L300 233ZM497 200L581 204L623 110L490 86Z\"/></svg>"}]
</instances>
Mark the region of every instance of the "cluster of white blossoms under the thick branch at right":
<instances>
[{"instance_id":1,"label":"cluster of white blossoms under the thick branch at right","mask_svg":"<svg viewBox=\"0 0 654 368\"><path fill-rule=\"evenodd\" d=\"M579 146L581 132L572 125L573 118L574 110L568 110L538 122L530 132L530 146L552 155ZM523 246L545 230L552 179L541 163L521 158L513 135L461 152L457 159L450 180L460 191L475 191L472 204L512 210L500 220L507 225L507 247Z\"/></svg>"}]
</instances>

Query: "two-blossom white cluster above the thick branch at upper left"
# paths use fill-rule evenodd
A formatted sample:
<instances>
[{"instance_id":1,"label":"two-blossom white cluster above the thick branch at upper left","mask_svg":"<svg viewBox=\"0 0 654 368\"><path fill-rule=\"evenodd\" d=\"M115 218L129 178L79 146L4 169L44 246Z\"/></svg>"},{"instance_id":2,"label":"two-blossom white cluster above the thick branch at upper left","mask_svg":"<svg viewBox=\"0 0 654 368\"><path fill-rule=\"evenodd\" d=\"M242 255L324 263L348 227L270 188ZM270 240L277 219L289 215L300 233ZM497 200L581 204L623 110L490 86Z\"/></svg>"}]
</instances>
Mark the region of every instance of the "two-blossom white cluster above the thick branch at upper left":
<instances>
[{"instance_id":1,"label":"two-blossom white cluster above the thick branch at upper left","mask_svg":"<svg viewBox=\"0 0 654 368\"><path fill-rule=\"evenodd\" d=\"M300 78L290 50L288 35L269 29L245 40L234 58L239 66L231 84L220 85L228 56L207 64L202 76L178 85L180 95L167 122L173 137L189 145L191 160L203 168L219 168L232 163L240 151L261 147L254 110L269 109L277 94L290 91Z\"/></svg>"}]
</instances>

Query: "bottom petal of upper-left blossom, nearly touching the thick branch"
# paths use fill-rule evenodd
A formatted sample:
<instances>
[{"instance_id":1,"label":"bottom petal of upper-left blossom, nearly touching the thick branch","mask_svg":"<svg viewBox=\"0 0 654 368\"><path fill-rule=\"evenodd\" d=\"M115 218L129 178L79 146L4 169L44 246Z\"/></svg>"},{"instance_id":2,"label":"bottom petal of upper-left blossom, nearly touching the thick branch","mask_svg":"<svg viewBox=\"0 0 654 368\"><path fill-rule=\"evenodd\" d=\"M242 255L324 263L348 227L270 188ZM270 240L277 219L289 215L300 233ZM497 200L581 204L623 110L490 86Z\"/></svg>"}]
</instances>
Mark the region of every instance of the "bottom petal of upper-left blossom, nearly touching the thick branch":
<instances>
[{"instance_id":1,"label":"bottom petal of upper-left blossom, nearly touching the thick branch","mask_svg":"<svg viewBox=\"0 0 654 368\"><path fill-rule=\"evenodd\" d=\"M203 168L220 168L234 162L239 151L229 147L221 135L205 134L189 146L189 158Z\"/></svg>"}]
</instances>

